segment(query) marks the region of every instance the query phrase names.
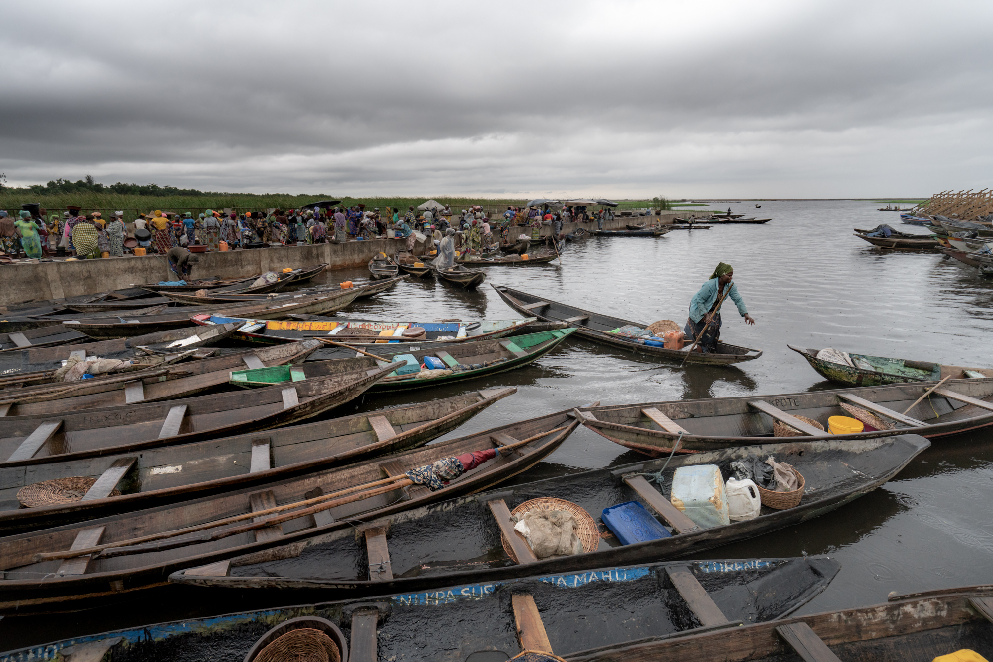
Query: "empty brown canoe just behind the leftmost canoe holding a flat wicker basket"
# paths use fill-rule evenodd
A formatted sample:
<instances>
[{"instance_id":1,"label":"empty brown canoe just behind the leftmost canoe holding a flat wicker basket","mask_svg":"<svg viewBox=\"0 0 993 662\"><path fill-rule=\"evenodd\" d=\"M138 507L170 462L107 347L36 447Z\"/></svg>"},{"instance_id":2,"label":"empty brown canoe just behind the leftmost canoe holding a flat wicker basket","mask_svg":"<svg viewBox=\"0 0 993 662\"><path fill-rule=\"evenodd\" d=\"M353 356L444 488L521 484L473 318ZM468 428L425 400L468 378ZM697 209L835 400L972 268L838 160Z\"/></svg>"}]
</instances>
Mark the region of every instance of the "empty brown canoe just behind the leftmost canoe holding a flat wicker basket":
<instances>
[{"instance_id":1,"label":"empty brown canoe just behind the leftmost canoe holding a flat wicker basket","mask_svg":"<svg viewBox=\"0 0 993 662\"><path fill-rule=\"evenodd\" d=\"M4 417L0 469L92 458L119 449L154 449L299 423L349 402L397 367L378 367L372 358L342 359L328 366L325 375L290 386L55 416Z\"/></svg>"}]
</instances>

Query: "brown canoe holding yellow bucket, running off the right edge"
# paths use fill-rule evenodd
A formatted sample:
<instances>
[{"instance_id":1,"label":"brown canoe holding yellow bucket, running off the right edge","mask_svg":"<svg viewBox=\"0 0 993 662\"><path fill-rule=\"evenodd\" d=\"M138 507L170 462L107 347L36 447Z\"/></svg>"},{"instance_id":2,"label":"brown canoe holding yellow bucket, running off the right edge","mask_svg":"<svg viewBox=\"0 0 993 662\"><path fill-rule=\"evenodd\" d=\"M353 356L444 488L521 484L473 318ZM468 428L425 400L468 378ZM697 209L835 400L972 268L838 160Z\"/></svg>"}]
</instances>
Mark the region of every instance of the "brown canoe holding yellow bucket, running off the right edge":
<instances>
[{"instance_id":1,"label":"brown canoe holding yellow bucket, running off the right edge","mask_svg":"<svg viewBox=\"0 0 993 662\"><path fill-rule=\"evenodd\" d=\"M670 400L638 405L600 407L584 412L584 424L621 446L649 456L680 449L713 451L755 444L774 433L780 421L803 441L857 440L914 433L933 439L993 425L993 377L949 380L906 414L904 412L937 382L912 382L777 395ZM830 416L865 422L860 433L831 435L797 420L816 421L827 429Z\"/></svg>"}]
</instances>

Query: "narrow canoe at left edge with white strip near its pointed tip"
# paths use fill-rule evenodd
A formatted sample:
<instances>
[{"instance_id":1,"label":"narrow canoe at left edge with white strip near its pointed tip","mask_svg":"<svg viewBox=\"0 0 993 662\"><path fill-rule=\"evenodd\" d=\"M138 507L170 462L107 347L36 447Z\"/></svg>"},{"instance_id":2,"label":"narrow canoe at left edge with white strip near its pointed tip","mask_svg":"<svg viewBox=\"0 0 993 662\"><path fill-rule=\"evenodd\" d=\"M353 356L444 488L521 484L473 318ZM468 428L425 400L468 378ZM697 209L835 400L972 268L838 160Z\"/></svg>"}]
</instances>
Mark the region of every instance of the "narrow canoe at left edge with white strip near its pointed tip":
<instances>
[{"instance_id":1,"label":"narrow canoe at left edge with white strip near its pointed tip","mask_svg":"<svg viewBox=\"0 0 993 662\"><path fill-rule=\"evenodd\" d=\"M68 359L74 352L80 352L79 356L126 359L145 356L148 353L170 353L182 349L195 349L220 342L237 328L238 325L236 324L219 325L207 330L200 327L189 327L113 340L8 351L0 354L0 369L5 374L56 370L62 367L62 361ZM89 340L89 338L86 339ZM141 347L147 347L148 351L141 349Z\"/></svg>"}]
</instances>

